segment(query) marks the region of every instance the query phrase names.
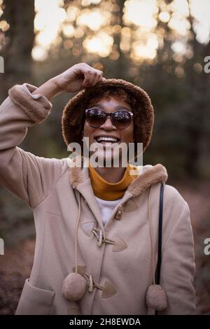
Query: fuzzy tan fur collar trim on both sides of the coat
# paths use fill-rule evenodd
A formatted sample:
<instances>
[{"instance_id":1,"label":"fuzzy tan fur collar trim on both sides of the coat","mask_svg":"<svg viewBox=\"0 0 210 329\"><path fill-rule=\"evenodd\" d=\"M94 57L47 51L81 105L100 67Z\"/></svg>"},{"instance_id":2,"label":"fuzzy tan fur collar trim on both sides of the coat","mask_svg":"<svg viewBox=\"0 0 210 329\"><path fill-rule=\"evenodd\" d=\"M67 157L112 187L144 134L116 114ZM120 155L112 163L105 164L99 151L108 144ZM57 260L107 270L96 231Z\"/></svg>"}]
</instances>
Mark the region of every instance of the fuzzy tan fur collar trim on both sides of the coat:
<instances>
[{"instance_id":1,"label":"fuzzy tan fur collar trim on both sides of the coat","mask_svg":"<svg viewBox=\"0 0 210 329\"><path fill-rule=\"evenodd\" d=\"M80 183L83 183L89 178L87 163L82 160L81 165L81 167L76 166L75 158L71 160L71 165L69 165L69 179L73 188L77 188ZM165 183L167 178L167 170L164 166L160 164L155 166L146 165L143 167L141 175L137 177L137 179L134 179L127 188L127 192L130 193L132 197L137 197L137 195L141 194L153 184L160 182Z\"/></svg>"}]
</instances>

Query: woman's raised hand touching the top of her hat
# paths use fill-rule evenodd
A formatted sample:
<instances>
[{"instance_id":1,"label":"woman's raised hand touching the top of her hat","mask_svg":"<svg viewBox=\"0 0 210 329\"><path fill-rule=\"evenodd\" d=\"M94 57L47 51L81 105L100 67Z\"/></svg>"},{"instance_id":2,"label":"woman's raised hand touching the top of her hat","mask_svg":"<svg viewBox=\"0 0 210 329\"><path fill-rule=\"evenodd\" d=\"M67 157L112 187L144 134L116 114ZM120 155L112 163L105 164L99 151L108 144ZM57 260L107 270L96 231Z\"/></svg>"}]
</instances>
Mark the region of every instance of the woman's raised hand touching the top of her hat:
<instances>
[{"instance_id":1,"label":"woman's raised hand touching the top of her hat","mask_svg":"<svg viewBox=\"0 0 210 329\"><path fill-rule=\"evenodd\" d=\"M78 92L85 87L91 87L104 80L103 72L85 64L71 66L53 78L60 92Z\"/></svg>"}]
</instances>

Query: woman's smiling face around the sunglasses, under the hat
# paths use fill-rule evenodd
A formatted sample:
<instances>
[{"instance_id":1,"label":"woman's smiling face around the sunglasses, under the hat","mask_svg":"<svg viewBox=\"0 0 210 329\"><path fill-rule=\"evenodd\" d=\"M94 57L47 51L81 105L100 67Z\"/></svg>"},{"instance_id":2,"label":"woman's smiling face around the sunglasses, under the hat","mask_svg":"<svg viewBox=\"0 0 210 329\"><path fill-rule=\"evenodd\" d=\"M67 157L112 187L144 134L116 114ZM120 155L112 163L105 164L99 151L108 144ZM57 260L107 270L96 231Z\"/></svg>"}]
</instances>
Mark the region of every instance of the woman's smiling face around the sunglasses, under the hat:
<instances>
[{"instance_id":1,"label":"woman's smiling face around the sunglasses, under the hat","mask_svg":"<svg viewBox=\"0 0 210 329\"><path fill-rule=\"evenodd\" d=\"M117 97L102 97L97 102L89 106L91 108L102 109L106 113L115 111L129 111L132 112L131 106L127 102L120 100ZM134 142L134 123L130 123L125 129L118 129L111 122L111 117L108 116L106 121L100 127L91 127L87 120L85 120L83 137L89 138L89 144L99 143L104 146L104 151L107 153L109 147L113 143L128 144Z\"/></svg>"}]
</instances>

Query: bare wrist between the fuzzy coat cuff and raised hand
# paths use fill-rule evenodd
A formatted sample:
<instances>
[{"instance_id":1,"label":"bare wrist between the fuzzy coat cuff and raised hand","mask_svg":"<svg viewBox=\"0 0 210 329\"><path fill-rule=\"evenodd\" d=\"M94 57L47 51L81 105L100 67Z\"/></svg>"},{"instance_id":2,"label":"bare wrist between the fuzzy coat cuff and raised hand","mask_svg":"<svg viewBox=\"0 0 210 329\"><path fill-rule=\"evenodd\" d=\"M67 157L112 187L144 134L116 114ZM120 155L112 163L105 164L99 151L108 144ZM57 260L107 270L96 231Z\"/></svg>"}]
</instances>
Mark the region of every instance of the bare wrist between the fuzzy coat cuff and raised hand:
<instances>
[{"instance_id":1,"label":"bare wrist between the fuzzy coat cuff and raised hand","mask_svg":"<svg viewBox=\"0 0 210 329\"><path fill-rule=\"evenodd\" d=\"M38 87L32 94L42 94L45 96L49 101L60 94L62 89L57 84L57 77L48 80L47 82L43 83L40 87Z\"/></svg>"}]
</instances>

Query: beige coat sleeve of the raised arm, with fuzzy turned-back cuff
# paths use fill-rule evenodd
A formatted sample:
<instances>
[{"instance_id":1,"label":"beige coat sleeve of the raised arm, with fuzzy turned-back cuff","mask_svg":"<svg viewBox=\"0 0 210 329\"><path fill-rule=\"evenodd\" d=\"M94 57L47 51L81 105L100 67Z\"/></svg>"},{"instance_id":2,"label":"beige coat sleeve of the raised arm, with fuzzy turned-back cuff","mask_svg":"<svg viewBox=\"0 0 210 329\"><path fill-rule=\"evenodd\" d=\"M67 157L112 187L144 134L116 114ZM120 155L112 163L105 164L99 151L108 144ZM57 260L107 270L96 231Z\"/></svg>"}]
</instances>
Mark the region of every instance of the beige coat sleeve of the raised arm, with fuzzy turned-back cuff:
<instances>
[{"instance_id":1,"label":"beige coat sleeve of the raised arm, with fuzzy turned-back cuff","mask_svg":"<svg viewBox=\"0 0 210 329\"><path fill-rule=\"evenodd\" d=\"M36 87L15 85L0 106L0 185L36 207L52 190L66 161L46 159L18 147L27 128L41 123L52 104L42 95L32 95Z\"/></svg>"}]
</instances>

